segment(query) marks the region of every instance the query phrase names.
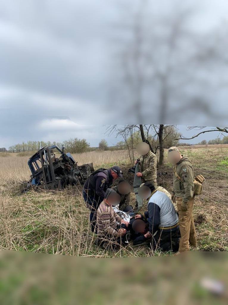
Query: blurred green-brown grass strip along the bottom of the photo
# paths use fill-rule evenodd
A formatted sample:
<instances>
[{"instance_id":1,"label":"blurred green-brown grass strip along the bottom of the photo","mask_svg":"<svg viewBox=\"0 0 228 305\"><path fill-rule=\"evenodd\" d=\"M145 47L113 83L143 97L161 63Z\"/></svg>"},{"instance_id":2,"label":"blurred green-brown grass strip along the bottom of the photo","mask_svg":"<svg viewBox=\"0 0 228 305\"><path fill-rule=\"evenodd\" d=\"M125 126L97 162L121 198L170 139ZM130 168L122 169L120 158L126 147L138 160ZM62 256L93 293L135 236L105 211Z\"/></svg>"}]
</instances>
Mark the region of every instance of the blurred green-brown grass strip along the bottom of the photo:
<instances>
[{"instance_id":1,"label":"blurred green-brown grass strip along the bottom of the photo","mask_svg":"<svg viewBox=\"0 0 228 305\"><path fill-rule=\"evenodd\" d=\"M227 304L227 253L101 259L0 253L4 305Z\"/></svg>"}]
</instances>

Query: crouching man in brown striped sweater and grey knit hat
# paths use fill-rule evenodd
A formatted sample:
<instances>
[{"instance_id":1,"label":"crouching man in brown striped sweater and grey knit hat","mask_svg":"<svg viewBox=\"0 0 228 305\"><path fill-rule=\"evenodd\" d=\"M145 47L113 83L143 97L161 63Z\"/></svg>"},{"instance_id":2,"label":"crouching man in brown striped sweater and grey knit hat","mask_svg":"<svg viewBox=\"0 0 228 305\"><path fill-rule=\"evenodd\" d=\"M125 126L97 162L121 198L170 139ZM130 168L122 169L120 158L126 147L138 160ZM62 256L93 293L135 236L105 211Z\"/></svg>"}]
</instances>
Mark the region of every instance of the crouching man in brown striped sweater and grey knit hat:
<instances>
[{"instance_id":1,"label":"crouching man in brown striped sweater and grey knit hat","mask_svg":"<svg viewBox=\"0 0 228 305\"><path fill-rule=\"evenodd\" d=\"M103 249L115 248L116 245L127 244L126 233L128 222L122 220L113 210L120 202L120 196L113 189L108 188L104 200L97 210L98 245Z\"/></svg>"}]
</instances>

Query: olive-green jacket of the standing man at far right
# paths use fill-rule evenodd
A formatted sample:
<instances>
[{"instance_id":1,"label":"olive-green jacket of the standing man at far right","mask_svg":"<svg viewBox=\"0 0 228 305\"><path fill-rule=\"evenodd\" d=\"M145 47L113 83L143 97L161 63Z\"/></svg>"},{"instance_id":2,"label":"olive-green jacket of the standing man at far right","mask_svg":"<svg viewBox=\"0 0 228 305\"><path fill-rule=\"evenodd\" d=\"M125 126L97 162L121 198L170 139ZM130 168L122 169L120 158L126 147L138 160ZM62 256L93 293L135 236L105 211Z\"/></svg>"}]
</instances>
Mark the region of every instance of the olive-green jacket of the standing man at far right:
<instances>
[{"instance_id":1,"label":"olive-green jacket of the standing man at far right","mask_svg":"<svg viewBox=\"0 0 228 305\"><path fill-rule=\"evenodd\" d=\"M183 183L175 176L176 173L183 180ZM188 202L194 194L194 170L191 161L187 157L182 157L173 166L173 191L176 197L183 197L183 202Z\"/></svg>"}]
</instances>

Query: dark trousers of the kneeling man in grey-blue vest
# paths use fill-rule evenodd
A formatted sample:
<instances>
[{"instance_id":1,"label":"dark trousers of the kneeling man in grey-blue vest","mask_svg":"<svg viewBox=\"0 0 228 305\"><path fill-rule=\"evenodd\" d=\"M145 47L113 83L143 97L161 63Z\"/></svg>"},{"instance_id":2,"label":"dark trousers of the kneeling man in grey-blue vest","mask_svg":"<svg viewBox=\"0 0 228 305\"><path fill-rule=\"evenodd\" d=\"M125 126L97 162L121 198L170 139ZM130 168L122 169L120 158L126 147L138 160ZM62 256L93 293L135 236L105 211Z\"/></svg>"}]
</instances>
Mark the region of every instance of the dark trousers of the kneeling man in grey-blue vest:
<instances>
[{"instance_id":1,"label":"dark trousers of the kneeling man in grey-blue vest","mask_svg":"<svg viewBox=\"0 0 228 305\"><path fill-rule=\"evenodd\" d=\"M161 249L162 251L177 252L179 248L180 229L179 226L172 230L158 230L152 237L151 246L153 249Z\"/></svg>"}]
</instances>

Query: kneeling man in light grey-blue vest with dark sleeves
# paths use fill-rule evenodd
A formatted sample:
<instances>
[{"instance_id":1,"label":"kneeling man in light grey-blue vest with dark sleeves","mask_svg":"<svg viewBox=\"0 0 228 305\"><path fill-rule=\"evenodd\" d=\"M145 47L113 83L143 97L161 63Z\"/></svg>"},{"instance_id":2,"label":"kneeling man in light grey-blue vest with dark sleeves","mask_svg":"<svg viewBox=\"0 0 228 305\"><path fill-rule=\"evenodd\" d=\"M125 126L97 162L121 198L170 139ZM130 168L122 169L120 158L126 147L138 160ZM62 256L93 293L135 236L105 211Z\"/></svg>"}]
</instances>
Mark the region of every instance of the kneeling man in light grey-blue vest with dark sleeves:
<instances>
[{"instance_id":1,"label":"kneeling man in light grey-blue vest with dark sleeves","mask_svg":"<svg viewBox=\"0 0 228 305\"><path fill-rule=\"evenodd\" d=\"M148 221L149 228L144 234L145 241L150 239L153 249L177 252L180 229L178 215L172 201L149 182L139 189L139 195L148 200L148 211L135 216L135 219Z\"/></svg>"}]
</instances>

